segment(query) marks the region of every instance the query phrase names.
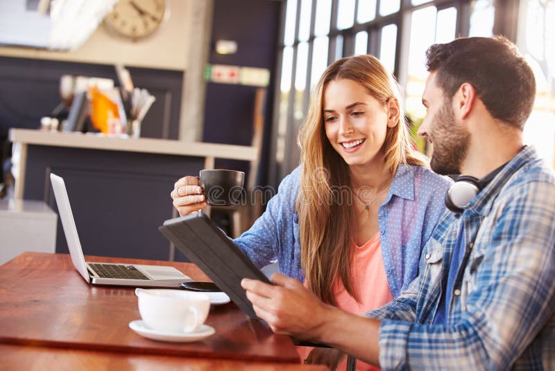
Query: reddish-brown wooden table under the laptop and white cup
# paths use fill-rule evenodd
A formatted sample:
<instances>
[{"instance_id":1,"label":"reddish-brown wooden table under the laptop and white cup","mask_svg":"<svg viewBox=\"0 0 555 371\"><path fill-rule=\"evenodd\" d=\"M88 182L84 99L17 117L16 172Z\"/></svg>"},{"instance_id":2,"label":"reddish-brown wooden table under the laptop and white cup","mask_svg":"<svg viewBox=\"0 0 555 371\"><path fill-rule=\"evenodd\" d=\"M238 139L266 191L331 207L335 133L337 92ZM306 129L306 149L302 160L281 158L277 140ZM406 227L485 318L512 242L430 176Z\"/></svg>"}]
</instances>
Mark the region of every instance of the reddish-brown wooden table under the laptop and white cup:
<instances>
[{"instance_id":1,"label":"reddish-brown wooden table under the laptop and white cup","mask_svg":"<svg viewBox=\"0 0 555 371\"><path fill-rule=\"evenodd\" d=\"M94 256L87 256L87 261L171 264L189 277L207 280L191 263ZM206 323L216 333L205 340L163 343L143 338L128 327L140 318L134 289L90 286L66 254L26 252L1 265L0 297L0 354L17 349L16 359L59 357L71 363L85 357L91 364L102 365L114 358L171 365L187 357L199 369L207 362L224 369L255 362L305 370L289 337L274 334L233 303L212 307ZM0 358L4 363L6 357Z\"/></svg>"}]
</instances>

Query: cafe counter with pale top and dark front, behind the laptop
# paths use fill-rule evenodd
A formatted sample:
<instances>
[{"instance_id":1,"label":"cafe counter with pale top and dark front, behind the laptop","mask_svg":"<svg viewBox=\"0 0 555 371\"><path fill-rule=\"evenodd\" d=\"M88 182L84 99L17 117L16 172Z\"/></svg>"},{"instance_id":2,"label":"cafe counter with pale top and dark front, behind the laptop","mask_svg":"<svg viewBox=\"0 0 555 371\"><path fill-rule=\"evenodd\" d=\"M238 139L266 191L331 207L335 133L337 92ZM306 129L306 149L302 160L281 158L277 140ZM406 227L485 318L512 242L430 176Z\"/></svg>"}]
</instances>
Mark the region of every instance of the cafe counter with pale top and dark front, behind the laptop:
<instances>
[{"instance_id":1,"label":"cafe counter with pale top and dark front, behind the laptop","mask_svg":"<svg viewBox=\"0 0 555 371\"><path fill-rule=\"evenodd\" d=\"M177 216L169 196L181 176L215 158L253 161L255 147L11 129L16 199L57 211L49 176L64 178L85 254L185 260L159 233ZM58 223L56 252L67 252Z\"/></svg>"}]
</instances>

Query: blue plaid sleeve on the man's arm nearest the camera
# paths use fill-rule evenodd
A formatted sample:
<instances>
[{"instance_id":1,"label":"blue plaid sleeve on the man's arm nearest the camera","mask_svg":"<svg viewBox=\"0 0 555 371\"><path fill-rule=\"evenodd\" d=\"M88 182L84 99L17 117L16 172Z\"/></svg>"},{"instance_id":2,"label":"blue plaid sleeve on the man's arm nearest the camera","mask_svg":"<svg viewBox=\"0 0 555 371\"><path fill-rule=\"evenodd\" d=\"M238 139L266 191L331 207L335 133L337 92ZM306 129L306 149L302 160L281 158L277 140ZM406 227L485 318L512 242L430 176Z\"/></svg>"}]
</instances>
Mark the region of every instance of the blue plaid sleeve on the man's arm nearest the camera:
<instances>
[{"instance_id":1,"label":"blue plaid sleeve on the man's arm nearest the camera","mask_svg":"<svg viewBox=\"0 0 555 371\"><path fill-rule=\"evenodd\" d=\"M482 223L474 245L483 255L469 262L463 277L472 289L449 326L411 322L412 305L369 313L394 318L380 325L382 369L507 370L553 315L554 183L520 183L499 195L487 218L490 225Z\"/></svg>"}]
</instances>

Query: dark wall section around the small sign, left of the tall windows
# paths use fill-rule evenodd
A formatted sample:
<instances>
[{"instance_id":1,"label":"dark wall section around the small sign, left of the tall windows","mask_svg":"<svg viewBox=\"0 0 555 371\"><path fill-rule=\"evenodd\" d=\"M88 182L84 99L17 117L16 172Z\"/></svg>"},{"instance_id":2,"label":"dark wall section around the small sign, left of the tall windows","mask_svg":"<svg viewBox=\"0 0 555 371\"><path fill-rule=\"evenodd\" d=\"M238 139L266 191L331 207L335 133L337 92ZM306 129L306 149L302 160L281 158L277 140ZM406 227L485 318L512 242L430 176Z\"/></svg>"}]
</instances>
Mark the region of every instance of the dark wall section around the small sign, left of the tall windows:
<instances>
[{"instance_id":1,"label":"dark wall section around the small sign, left of the tall windows","mask_svg":"<svg viewBox=\"0 0 555 371\"><path fill-rule=\"evenodd\" d=\"M259 67L271 72L264 107L264 140L257 183L266 184L271 133L273 81L278 50L282 1L215 0L209 63ZM234 40L237 53L220 55L216 40ZM253 138L253 86L207 83L203 140L250 145ZM218 160L216 167L248 170L244 161Z\"/></svg>"}]
</instances>

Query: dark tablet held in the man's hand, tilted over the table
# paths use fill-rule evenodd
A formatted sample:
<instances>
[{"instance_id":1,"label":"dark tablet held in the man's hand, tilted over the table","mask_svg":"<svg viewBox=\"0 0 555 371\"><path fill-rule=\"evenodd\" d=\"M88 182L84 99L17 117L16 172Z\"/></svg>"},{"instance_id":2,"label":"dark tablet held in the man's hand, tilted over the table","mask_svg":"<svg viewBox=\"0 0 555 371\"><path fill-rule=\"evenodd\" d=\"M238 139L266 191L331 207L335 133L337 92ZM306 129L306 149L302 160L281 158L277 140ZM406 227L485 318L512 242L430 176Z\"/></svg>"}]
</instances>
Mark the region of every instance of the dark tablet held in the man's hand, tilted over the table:
<instances>
[{"instance_id":1,"label":"dark tablet held in the man's hand, tilted over the table","mask_svg":"<svg viewBox=\"0 0 555 371\"><path fill-rule=\"evenodd\" d=\"M253 304L241 288L241 279L272 284L264 273L225 236L204 213L166 220L160 232L195 263L250 318L257 318Z\"/></svg>"}]
</instances>

